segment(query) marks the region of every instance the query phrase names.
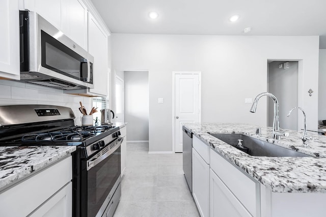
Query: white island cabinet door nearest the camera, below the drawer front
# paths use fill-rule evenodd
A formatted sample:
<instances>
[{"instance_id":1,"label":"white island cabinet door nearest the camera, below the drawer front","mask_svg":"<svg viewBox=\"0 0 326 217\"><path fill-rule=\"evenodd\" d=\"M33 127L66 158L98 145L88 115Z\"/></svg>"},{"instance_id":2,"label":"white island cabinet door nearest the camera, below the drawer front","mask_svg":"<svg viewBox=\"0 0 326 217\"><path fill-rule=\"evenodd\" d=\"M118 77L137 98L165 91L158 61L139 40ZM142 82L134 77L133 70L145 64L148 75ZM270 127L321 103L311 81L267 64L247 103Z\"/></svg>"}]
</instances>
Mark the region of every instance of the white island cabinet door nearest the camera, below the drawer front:
<instances>
[{"instance_id":1,"label":"white island cabinet door nearest the camera, below the drawer front","mask_svg":"<svg viewBox=\"0 0 326 217\"><path fill-rule=\"evenodd\" d=\"M210 217L252 217L211 169L209 198Z\"/></svg>"}]
</instances>

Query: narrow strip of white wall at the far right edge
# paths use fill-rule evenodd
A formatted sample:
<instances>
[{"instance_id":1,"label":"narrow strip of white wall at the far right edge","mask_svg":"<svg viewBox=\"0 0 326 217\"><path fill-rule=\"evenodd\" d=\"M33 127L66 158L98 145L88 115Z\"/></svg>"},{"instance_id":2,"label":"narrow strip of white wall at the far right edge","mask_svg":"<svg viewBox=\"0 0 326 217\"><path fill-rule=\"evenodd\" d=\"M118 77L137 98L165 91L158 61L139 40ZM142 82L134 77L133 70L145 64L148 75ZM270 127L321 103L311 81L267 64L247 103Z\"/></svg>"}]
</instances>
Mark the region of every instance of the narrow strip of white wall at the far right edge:
<instances>
[{"instance_id":1,"label":"narrow strip of white wall at the far right edge","mask_svg":"<svg viewBox=\"0 0 326 217\"><path fill-rule=\"evenodd\" d=\"M318 120L326 120L326 49L319 50Z\"/></svg>"}]
</instances>

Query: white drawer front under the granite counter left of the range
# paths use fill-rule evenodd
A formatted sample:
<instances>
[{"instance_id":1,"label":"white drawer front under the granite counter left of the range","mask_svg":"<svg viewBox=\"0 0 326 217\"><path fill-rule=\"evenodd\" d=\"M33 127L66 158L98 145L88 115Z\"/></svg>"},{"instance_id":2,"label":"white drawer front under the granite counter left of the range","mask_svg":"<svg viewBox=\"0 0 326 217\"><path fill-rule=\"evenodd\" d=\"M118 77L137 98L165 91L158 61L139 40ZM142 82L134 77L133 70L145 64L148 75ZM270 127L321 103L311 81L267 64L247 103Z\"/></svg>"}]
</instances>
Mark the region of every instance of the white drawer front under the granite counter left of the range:
<instances>
[{"instance_id":1,"label":"white drawer front under the granite counter left of the range","mask_svg":"<svg viewBox=\"0 0 326 217\"><path fill-rule=\"evenodd\" d=\"M0 216L30 214L71 179L72 157L70 156L22 180L0 194Z\"/></svg>"}]
</instances>

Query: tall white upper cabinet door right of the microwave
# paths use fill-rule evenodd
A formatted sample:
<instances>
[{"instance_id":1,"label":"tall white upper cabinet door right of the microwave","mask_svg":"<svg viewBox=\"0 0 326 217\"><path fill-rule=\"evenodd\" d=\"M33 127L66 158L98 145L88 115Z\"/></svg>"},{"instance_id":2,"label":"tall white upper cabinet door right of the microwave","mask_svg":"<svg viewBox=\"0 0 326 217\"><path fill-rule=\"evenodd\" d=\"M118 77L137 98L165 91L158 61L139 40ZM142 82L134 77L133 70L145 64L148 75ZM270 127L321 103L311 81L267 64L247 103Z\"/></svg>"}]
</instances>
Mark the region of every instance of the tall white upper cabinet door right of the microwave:
<instances>
[{"instance_id":1,"label":"tall white upper cabinet door right of the microwave","mask_svg":"<svg viewBox=\"0 0 326 217\"><path fill-rule=\"evenodd\" d=\"M91 13L88 22L88 52L94 57L94 88L90 92L105 97L108 93L107 35Z\"/></svg>"}]
</instances>

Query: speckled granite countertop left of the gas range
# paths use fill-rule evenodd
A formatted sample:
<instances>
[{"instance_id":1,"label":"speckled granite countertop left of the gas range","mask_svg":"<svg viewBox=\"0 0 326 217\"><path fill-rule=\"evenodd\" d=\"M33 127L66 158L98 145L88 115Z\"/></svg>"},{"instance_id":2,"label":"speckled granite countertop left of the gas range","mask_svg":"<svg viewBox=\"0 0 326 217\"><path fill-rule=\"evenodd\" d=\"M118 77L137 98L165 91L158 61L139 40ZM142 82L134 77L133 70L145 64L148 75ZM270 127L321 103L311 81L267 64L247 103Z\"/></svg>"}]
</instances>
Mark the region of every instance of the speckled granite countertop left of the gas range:
<instances>
[{"instance_id":1,"label":"speckled granite countertop left of the gas range","mask_svg":"<svg viewBox=\"0 0 326 217\"><path fill-rule=\"evenodd\" d=\"M0 191L76 150L75 146L0 147Z\"/></svg>"}]
</instances>

